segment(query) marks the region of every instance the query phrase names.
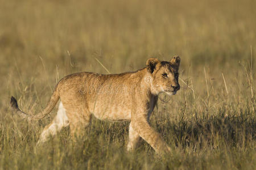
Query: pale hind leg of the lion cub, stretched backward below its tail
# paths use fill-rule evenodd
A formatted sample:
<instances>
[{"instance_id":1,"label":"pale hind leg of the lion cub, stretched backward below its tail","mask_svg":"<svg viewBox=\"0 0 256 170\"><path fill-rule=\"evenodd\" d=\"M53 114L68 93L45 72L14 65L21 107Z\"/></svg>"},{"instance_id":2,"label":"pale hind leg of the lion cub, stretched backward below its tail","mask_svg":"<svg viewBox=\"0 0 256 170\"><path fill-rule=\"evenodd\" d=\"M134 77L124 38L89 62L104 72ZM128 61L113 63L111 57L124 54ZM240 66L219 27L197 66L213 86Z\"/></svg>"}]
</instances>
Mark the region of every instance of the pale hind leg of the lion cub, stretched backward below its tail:
<instances>
[{"instance_id":1,"label":"pale hind leg of the lion cub, stretched backward below its tail","mask_svg":"<svg viewBox=\"0 0 256 170\"><path fill-rule=\"evenodd\" d=\"M67 127L69 125L68 117L65 112L65 108L60 101L59 109L57 111L57 115L51 122L51 124L44 127L42 134L40 135L39 141L36 145L40 145L43 142L46 142L50 136L54 136L60 131L62 128Z\"/></svg>"}]
</instances>

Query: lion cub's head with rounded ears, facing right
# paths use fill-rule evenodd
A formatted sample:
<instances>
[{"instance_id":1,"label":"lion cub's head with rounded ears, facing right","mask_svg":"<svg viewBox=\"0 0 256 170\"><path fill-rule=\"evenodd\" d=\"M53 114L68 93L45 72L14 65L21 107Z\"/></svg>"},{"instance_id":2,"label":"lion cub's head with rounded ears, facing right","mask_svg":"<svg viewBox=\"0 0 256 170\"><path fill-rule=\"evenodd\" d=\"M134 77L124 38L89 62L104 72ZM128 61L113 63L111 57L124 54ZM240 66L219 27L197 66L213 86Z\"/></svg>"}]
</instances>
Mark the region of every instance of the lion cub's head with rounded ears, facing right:
<instances>
[{"instance_id":1,"label":"lion cub's head with rounded ears, facing right","mask_svg":"<svg viewBox=\"0 0 256 170\"><path fill-rule=\"evenodd\" d=\"M168 95L175 95L180 89L179 56L174 56L171 61L159 61L157 58L149 58L146 66L151 75L150 88L153 94L157 95L161 92L166 92Z\"/></svg>"}]
</instances>

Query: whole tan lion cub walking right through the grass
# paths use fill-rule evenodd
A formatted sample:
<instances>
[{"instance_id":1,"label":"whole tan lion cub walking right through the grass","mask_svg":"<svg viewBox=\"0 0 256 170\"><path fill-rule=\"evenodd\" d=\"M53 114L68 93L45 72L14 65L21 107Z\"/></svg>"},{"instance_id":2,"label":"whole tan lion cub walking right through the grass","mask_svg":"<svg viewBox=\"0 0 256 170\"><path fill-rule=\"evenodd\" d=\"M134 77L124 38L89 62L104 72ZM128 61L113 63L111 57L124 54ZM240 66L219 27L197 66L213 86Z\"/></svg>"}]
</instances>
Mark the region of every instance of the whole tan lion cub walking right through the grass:
<instances>
[{"instance_id":1,"label":"whole tan lion cub walking right through the grass","mask_svg":"<svg viewBox=\"0 0 256 170\"><path fill-rule=\"evenodd\" d=\"M130 121L127 150L133 150L141 137L156 152L168 152L170 148L148 120L160 93L175 95L179 90L179 63L178 56L170 62L150 58L145 68L135 72L109 75L84 72L65 76L56 85L46 109L34 116L22 112L14 97L11 105L23 118L39 120L61 100L57 116L44 128L38 143L68 125L72 135L81 134L93 114L100 120Z\"/></svg>"}]
</instances>

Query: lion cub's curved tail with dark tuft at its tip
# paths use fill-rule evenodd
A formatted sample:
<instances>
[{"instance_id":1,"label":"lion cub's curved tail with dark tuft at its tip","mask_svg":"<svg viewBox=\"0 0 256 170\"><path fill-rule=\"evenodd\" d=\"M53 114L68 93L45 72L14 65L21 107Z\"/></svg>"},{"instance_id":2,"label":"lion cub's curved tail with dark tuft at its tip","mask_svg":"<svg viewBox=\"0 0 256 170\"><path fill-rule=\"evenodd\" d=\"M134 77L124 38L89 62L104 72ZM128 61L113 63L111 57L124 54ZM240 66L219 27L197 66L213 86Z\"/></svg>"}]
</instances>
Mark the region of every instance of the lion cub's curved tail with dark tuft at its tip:
<instances>
[{"instance_id":1,"label":"lion cub's curved tail with dark tuft at its tip","mask_svg":"<svg viewBox=\"0 0 256 170\"><path fill-rule=\"evenodd\" d=\"M48 101L46 108L43 110L43 112L35 115L27 114L21 111L18 107L17 100L13 96L11 96L10 104L13 112L18 113L20 117L27 118L28 121L36 121L36 120L40 120L41 118L45 117L49 112L51 112L52 109L55 107L57 101L59 101L59 99L60 99L60 96L55 88L55 91L53 92L51 99Z\"/></svg>"}]
</instances>

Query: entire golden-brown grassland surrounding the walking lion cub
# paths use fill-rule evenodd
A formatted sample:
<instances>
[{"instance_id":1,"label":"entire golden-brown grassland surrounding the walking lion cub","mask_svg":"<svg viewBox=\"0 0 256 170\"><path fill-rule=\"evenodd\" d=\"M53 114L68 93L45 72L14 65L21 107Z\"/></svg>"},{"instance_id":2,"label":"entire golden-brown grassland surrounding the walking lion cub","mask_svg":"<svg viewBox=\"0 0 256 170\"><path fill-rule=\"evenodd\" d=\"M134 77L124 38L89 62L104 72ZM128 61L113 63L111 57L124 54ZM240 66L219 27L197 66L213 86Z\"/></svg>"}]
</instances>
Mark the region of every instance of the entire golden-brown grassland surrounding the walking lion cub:
<instances>
[{"instance_id":1,"label":"entire golden-brown grassland surrounding the walking lion cub","mask_svg":"<svg viewBox=\"0 0 256 170\"><path fill-rule=\"evenodd\" d=\"M256 169L256 1L0 4L0 169ZM172 149L164 158L144 141L126 152L129 122L95 118L76 143L65 128L36 148L56 108L32 124L9 110L14 95L24 111L42 111L65 75L122 73L174 54L181 90L160 95L150 119Z\"/></svg>"}]
</instances>

